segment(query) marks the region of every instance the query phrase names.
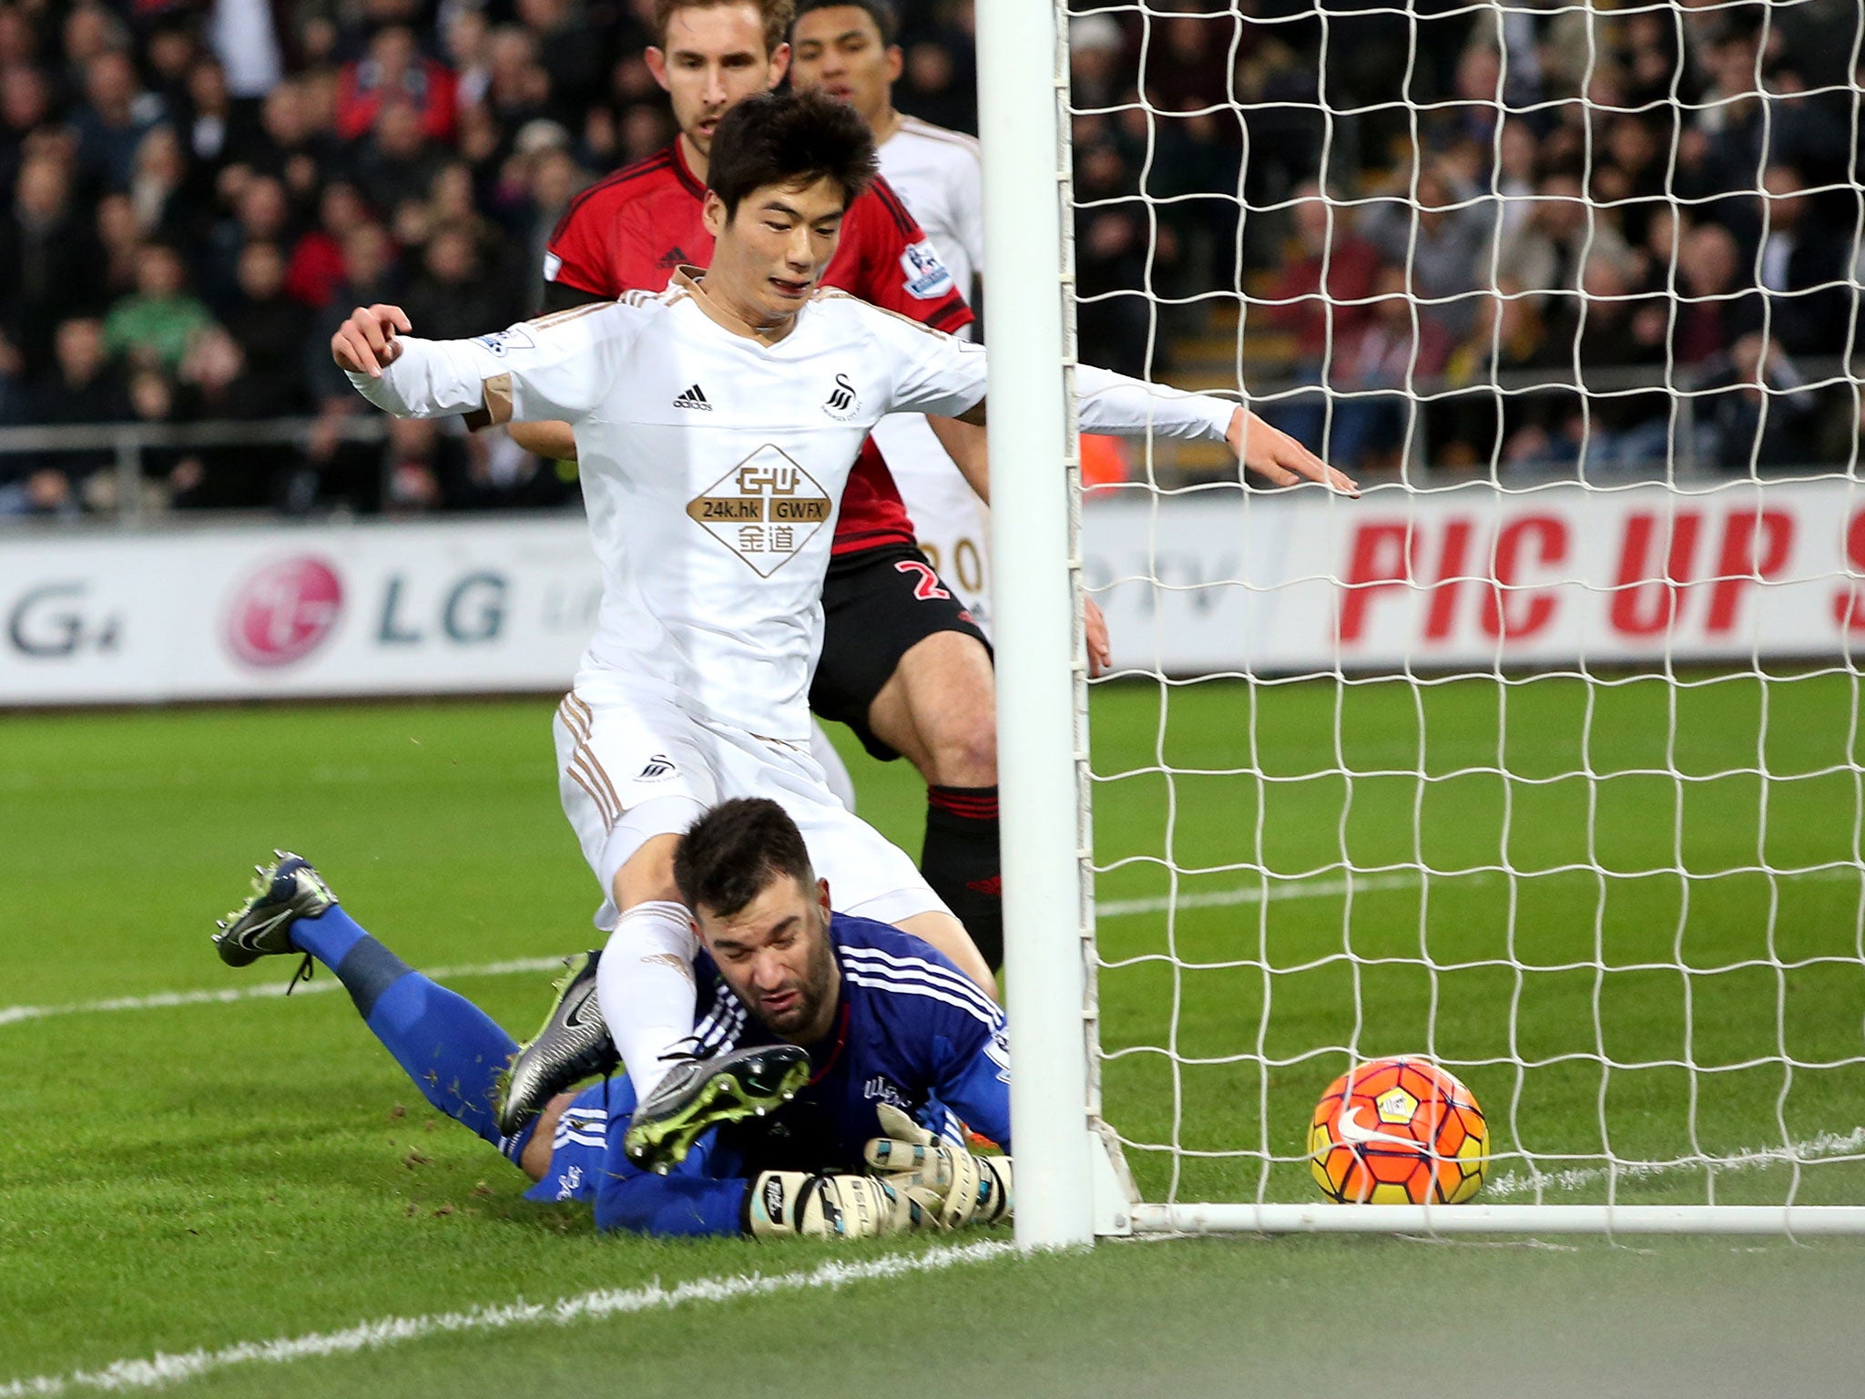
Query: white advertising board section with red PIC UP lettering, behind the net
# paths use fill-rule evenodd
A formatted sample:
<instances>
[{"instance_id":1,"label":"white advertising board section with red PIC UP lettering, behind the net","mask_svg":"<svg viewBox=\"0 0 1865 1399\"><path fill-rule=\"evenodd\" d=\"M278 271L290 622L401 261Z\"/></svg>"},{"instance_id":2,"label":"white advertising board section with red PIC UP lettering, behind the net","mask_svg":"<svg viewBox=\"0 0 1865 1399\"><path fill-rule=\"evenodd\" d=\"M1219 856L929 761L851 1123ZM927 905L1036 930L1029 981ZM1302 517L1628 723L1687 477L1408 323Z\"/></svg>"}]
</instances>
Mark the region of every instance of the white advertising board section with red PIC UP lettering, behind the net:
<instances>
[{"instance_id":1,"label":"white advertising board section with red PIC UP lettering, behind the net","mask_svg":"<svg viewBox=\"0 0 1865 1399\"><path fill-rule=\"evenodd\" d=\"M1843 479L1209 498L1089 511L1117 664L1748 660L1835 655L1865 632L1865 494Z\"/></svg>"}]
</instances>

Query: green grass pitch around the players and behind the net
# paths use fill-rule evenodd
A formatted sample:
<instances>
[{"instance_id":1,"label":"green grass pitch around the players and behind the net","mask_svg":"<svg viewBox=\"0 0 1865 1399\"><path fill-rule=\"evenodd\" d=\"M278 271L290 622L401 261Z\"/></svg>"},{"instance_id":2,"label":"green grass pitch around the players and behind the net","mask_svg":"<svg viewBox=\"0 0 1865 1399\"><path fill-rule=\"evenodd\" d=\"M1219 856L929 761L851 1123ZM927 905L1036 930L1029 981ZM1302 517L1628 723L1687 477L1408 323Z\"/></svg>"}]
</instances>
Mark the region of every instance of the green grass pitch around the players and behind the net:
<instances>
[{"instance_id":1,"label":"green grass pitch around the players and behind the net","mask_svg":"<svg viewBox=\"0 0 1865 1399\"><path fill-rule=\"evenodd\" d=\"M1643 1162L1619 1199L1865 1201L1856 685L1680 679L1097 688L1102 1073L1147 1196L1313 1198L1307 1112L1348 1052L1429 1050L1488 1112L1494 1198L1602 1199L1611 1151ZM272 845L418 966L584 946L593 884L558 813L550 707L0 718L0 1395L942 1242L597 1239L580 1211L520 1201L341 994L67 1009L282 989L283 961L228 972L207 944ZM916 851L912 776L856 778ZM451 985L528 1033L546 979ZM1682 1160L1783 1143L1807 1160ZM1848 1240L1104 1244L179 1388L1839 1392L1861 1283Z\"/></svg>"}]
</instances>

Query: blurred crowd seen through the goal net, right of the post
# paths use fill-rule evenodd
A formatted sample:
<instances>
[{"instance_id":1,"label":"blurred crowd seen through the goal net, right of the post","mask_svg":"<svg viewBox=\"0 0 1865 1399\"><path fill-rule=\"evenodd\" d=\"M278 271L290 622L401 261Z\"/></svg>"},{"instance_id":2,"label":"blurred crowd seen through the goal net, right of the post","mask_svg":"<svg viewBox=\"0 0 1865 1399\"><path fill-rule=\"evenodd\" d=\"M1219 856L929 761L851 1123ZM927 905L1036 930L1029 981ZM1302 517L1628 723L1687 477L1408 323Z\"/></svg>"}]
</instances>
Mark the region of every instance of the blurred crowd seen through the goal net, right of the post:
<instances>
[{"instance_id":1,"label":"blurred crowd seen through the goal net, right of the post","mask_svg":"<svg viewBox=\"0 0 1865 1399\"><path fill-rule=\"evenodd\" d=\"M1856 0L1324 9L1074 21L1084 356L1169 377L1229 287L1264 414L1375 478L1856 457Z\"/></svg>"}]
</instances>

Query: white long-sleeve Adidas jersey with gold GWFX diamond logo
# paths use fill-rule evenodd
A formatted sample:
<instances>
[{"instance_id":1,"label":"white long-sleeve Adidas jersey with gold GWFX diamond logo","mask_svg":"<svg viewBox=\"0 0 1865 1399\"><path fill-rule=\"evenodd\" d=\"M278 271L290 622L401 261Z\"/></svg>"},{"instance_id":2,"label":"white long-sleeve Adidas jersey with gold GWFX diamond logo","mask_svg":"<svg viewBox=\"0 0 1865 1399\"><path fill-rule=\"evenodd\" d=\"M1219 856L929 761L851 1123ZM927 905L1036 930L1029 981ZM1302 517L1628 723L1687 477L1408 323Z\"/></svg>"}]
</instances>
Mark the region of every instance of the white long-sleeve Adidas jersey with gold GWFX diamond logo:
<instances>
[{"instance_id":1,"label":"white long-sleeve Adidas jersey with gold GWFX diamond logo","mask_svg":"<svg viewBox=\"0 0 1865 1399\"><path fill-rule=\"evenodd\" d=\"M862 438L886 412L975 407L985 351L826 289L767 345L699 295L681 274L494 336L403 336L380 379L351 382L397 416L569 422L602 571L584 666L808 746L822 575ZM1100 369L1078 388L1089 431L1222 438L1235 412Z\"/></svg>"}]
</instances>

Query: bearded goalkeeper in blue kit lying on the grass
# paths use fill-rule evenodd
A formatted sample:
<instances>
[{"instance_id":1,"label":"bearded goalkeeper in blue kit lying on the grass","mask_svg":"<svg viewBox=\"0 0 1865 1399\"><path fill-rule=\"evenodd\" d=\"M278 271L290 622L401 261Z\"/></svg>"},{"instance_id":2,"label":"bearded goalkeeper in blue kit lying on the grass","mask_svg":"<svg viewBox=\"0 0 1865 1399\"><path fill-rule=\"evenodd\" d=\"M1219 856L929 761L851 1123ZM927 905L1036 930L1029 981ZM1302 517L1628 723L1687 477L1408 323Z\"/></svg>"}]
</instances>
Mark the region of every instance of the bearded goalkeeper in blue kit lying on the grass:
<instances>
[{"instance_id":1,"label":"bearded goalkeeper in blue kit lying on the grass","mask_svg":"<svg viewBox=\"0 0 1865 1399\"><path fill-rule=\"evenodd\" d=\"M530 1199L591 1201L599 1229L651 1235L865 1237L1009 1218L1009 1158L960 1145L960 1119L1009 1142L1003 1013L925 942L832 914L776 802L714 806L675 856L703 948L692 1058L735 1050L746 1063L722 1080L733 1101L703 1104L714 1125L668 1175L623 1155L627 1078L560 1093L502 1136L492 1102L518 1048L511 1035L364 933L298 856L259 873L214 935L220 957L246 966L304 953L328 966L421 1095L532 1177ZM546 1033L565 1058L606 1071L597 957L571 963Z\"/></svg>"}]
</instances>

